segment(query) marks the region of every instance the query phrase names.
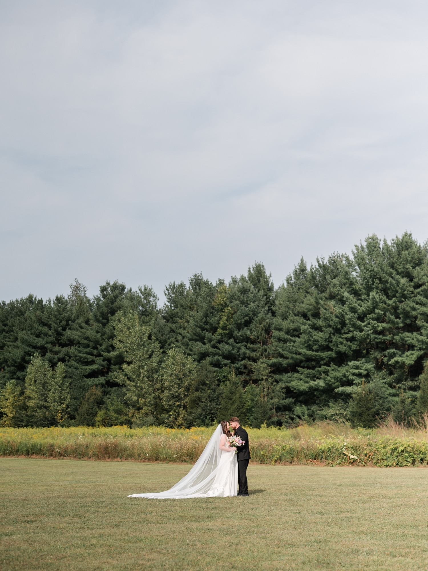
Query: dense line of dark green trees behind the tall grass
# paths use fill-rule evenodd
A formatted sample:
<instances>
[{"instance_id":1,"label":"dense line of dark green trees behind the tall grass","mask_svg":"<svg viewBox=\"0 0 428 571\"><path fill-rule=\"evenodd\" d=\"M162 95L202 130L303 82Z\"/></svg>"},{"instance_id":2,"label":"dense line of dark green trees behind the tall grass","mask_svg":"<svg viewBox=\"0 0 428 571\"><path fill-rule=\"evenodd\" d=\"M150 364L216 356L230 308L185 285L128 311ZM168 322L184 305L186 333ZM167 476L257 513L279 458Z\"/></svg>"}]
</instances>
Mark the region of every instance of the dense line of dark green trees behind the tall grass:
<instances>
[{"instance_id":1,"label":"dense line of dark green trees behind the tall grass","mask_svg":"<svg viewBox=\"0 0 428 571\"><path fill-rule=\"evenodd\" d=\"M67 297L3 301L0 422L370 426L428 409L428 246L407 232L301 260L276 289L256 263L165 297L106 282L90 299L76 280Z\"/></svg>"}]
</instances>

